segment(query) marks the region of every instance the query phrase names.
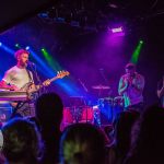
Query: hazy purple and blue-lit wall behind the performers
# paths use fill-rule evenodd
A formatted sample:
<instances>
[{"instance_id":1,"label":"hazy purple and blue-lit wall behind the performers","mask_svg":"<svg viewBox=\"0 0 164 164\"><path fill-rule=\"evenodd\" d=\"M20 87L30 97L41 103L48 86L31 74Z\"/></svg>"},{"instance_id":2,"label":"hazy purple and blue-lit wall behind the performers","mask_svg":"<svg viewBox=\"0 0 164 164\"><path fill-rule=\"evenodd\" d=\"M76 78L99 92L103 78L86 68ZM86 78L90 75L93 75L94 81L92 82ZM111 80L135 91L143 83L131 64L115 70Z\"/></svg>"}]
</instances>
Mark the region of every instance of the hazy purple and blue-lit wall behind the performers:
<instances>
[{"instance_id":1,"label":"hazy purple and blue-lit wall behind the performers","mask_svg":"<svg viewBox=\"0 0 164 164\"><path fill-rule=\"evenodd\" d=\"M98 91L93 90L92 86L103 84L110 86L110 91L102 96L117 96L117 86L119 77L124 74L124 67L130 60L139 39L143 39L138 71L145 77L147 105L152 104L157 101L156 84L164 72L164 32L157 35L157 23L152 21L141 31L112 38L106 32L84 31L68 24L43 22L35 16L0 34L0 42L7 46L5 49L0 47L0 77L15 63L8 48L15 51L15 44L20 44L22 48L30 46L47 63L40 52L40 48L44 47L55 61L71 72L72 83L83 90L83 93L85 91L79 80L87 87L87 94L97 96ZM37 61L35 62L37 65ZM50 77L43 72L39 72L43 80ZM58 84L52 84L51 89L61 96L67 96L62 94L63 90Z\"/></svg>"}]
</instances>

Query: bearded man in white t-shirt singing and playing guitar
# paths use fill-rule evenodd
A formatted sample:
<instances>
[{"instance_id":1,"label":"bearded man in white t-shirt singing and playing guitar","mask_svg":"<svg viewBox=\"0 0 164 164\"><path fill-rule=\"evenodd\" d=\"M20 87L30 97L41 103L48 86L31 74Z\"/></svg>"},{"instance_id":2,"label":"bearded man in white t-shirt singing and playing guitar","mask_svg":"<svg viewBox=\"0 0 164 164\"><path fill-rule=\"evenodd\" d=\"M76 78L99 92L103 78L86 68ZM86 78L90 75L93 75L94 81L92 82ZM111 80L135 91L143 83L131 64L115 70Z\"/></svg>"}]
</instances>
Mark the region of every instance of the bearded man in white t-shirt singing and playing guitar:
<instances>
[{"instance_id":1,"label":"bearded man in white t-shirt singing and playing guitar","mask_svg":"<svg viewBox=\"0 0 164 164\"><path fill-rule=\"evenodd\" d=\"M7 89L10 91L25 91L24 86L27 83L32 83L31 89L35 87L33 73L27 69L30 52L25 49L20 49L15 51L14 57L16 59L16 65L9 69L2 81L0 82L1 89ZM44 85L49 85L50 81L46 81ZM17 108L17 112L22 116L30 116L31 109L30 104L24 103L21 108Z\"/></svg>"}]
</instances>

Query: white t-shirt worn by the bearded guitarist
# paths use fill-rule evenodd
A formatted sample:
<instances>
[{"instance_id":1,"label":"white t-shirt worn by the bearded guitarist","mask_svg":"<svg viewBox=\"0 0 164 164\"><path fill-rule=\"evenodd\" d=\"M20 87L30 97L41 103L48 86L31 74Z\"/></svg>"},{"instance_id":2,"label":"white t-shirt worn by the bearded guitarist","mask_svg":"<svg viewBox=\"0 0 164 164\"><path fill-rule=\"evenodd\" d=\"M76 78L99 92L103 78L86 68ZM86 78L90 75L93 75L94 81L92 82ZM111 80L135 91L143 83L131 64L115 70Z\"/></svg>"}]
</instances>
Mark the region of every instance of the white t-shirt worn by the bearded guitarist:
<instances>
[{"instance_id":1,"label":"white t-shirt worn by the bearded guitarist","mask_svg":"<svg viewBox=\"0 0 164 164\"><path fill-rule=\"evenodd\" d=\"M22 89L25 86L25 84L33 82L33 73L31 71L28 72L31 78L25 68L21 69L17 66L14 66L5 72L3 81L5 81L8 84L14 84L19 89Z\"/></svg>"}]
</instances>

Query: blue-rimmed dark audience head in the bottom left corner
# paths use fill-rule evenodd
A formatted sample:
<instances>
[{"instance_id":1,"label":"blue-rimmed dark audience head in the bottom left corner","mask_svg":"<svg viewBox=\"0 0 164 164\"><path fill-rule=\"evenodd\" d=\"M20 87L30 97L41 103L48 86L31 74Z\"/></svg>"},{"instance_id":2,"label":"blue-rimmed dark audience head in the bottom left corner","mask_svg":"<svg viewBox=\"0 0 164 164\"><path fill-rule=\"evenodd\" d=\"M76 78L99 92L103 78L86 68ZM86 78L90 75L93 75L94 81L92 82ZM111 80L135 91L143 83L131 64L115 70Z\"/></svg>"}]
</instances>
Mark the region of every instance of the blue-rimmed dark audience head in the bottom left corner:
<instances>
[{"instance_id":1,"label":"blue-rimmed dark audience head in the bottom left corner","mask_svg":"<svg viewBox=\"0 0 164 164\"><path fill-rule=\"evenodd\" d=\"M2 154L7 163L37 164L42 157L43 143L36 126L23 118L11 119L1 129Z\"/></svg>"}]
</instances>

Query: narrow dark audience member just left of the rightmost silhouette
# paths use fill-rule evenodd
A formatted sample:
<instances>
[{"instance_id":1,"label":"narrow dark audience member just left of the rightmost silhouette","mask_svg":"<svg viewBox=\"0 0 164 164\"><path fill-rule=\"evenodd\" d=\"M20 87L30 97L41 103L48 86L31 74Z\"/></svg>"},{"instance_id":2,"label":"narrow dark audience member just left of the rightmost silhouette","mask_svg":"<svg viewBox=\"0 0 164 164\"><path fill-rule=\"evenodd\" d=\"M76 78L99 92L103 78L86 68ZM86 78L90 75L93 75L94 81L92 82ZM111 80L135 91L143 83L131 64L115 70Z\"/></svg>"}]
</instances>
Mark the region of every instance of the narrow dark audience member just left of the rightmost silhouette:
<instances>
[{"instance_id":1,"label":"narrow dark audience member just left of the rightmost silhouette","mask_svg":"<svg viewBox=\"0 0 164 164\"><path fill-rule=\"evenodd\" d=\"M136 110L120 113L114 125L114 142L109 148L109 164L121 164L131 145L131 128L139 118Z\"/></svg>"}]
</instances>

